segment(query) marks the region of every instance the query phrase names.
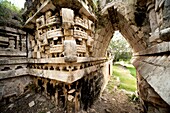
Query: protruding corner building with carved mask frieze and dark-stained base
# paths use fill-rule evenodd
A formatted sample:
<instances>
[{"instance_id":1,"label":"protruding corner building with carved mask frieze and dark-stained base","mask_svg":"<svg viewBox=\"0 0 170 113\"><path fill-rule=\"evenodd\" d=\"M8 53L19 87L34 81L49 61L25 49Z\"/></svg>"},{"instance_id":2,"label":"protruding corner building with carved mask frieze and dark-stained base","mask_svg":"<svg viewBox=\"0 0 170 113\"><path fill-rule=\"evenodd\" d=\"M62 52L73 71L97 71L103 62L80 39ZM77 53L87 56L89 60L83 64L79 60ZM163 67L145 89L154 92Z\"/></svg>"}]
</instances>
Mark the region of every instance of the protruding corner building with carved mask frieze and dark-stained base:
<instances>
[{"instance_id":1,"label":"protruding corner building with carved mask frieze and dark-stained base","mask_svg":"<svg viewBox=\"0 0 170 113\"><path fill-rule=\"evenodd\" d=\"M86 110L100 96L112 73L109 58L100 53L93 56L97 21L93 2L31 3L34 5L24 13L24 27L30 30L28 74L34 77L37 91L67 112Z\"/></svg>"}]
</instances>

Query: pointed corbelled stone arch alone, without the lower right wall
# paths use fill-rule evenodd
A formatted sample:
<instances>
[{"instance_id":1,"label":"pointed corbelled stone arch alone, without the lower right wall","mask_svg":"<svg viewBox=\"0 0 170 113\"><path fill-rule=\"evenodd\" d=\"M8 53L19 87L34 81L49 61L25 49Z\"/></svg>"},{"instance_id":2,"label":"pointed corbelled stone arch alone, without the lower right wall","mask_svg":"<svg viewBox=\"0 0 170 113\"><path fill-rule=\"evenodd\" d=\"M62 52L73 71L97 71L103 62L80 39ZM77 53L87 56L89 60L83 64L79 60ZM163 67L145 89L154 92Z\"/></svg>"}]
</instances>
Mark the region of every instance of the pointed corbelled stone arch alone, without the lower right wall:
<instances>
[{"instance_id":1,"label":"pointed corbelled stone arch alone, without the lower right wall","mask_svg":"<svg viewBox=\"0 0 170 113\"><path fill-rule=\"evenodd\" d=\"M134 20L135 17L133 8L135 7L128 6L128 4L123 2L113 2L105 6L105 8L101 11L102 21L99 22L99 30L96 33L93 56L97 57L97 55L99 55L96 53L106 53L108 44L116 30L119 30L125 37L131 45L134 53L147 48L148 40L145 39L144 31L142 31L142 29L145 29L146 27L144 25L137 27ZM147 22L145 22L145 24L146 23ZM102 28L100 29L100 27ZM104 55L105 54L102 54L102 56Z\"/></svg>"}]
</instances>

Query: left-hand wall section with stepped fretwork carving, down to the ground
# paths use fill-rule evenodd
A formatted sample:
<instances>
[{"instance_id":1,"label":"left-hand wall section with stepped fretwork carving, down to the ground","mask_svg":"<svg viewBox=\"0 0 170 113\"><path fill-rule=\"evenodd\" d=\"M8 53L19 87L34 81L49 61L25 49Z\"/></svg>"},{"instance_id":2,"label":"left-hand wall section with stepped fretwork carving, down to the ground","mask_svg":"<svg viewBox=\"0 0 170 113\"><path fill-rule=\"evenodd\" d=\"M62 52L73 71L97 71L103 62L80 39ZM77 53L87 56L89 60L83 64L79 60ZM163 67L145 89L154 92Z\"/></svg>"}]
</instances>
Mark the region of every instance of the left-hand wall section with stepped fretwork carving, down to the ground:
<instances>
[{"instance_id":1,"label":"left-hand wall section with stepped fretwork carving, down to the ground","mask_svg":"<svg viewBox=\"0 0 170 113\"><path fill-rule=\"evenodd\" d=\"M31 83L27 71L26 32L0 26L0 103L14 101Z\"/></svg>"}]
</instances>

